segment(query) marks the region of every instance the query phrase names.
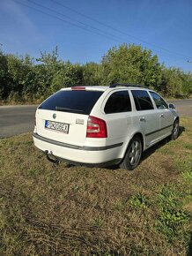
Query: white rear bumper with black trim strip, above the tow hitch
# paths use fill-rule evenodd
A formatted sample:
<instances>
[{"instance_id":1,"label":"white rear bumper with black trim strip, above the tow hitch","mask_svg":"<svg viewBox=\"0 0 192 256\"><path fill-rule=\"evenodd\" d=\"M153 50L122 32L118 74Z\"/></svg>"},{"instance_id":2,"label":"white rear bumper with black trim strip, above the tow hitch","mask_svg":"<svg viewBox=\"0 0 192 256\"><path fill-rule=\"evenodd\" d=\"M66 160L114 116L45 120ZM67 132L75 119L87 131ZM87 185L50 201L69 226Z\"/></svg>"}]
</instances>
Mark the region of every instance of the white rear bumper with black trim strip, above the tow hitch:
<instances>
[{"instance_id":1,"label":"white rear bumper with black trim strip, above the tow hitch","mask_svg":"<svg viewBox=\"0 0 192 256\"><path fill-rule=\"evenodd\" d=\"M73 164L83 163L85 165L100 164L101 166L107 166L121 162L119 154L123 143L105 147L80 147L48 139L37 133L33 133L33 141L35 147L40 148L44 152L48 150L49 154L54 154L58 158Z\"/></svg>"}]
</instances>

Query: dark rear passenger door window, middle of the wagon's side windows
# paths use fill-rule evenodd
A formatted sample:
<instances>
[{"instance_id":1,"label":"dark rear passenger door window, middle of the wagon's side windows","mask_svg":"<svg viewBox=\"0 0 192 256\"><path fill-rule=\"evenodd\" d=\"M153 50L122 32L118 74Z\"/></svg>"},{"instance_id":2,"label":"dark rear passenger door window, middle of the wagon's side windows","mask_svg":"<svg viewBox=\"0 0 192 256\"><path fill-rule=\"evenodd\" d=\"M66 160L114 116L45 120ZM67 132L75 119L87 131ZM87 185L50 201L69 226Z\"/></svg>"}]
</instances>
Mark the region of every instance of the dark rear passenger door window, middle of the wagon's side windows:
<instances>
[{"instance_id":1,"label":"dark rear passenger door window, middle of the wagon's side windows","mask_svg":"<svg viewBox=\"0 0 192 256\"><path fill-rule=\"evenodd\" d=\"M136 104L136 109L140 110L150 110L154 109L151 98L149 94L144 90L131 90L133 94L134 102Z\"/></svg>"}]
</instances>

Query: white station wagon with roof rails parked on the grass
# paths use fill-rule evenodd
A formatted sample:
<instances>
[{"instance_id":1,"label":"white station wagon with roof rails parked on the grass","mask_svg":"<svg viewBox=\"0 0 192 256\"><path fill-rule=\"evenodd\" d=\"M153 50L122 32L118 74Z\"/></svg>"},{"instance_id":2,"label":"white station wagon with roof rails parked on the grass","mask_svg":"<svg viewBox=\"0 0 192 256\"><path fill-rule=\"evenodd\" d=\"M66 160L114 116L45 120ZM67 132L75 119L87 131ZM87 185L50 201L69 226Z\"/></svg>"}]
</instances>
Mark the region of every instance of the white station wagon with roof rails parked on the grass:
<instances>
[{"instance_id":1,"label":"white station wagon with roof rails parked on the grass","mask_svg":"<svg viewBox=\"0 0 192 256\"><path fill-rule=\"evenodd\" d=\"M174 104L149 88L114 84L51 95L36 110L33 141L55 163L135 169L144 150L178 134Z\"/></svg>"}]
</instances>

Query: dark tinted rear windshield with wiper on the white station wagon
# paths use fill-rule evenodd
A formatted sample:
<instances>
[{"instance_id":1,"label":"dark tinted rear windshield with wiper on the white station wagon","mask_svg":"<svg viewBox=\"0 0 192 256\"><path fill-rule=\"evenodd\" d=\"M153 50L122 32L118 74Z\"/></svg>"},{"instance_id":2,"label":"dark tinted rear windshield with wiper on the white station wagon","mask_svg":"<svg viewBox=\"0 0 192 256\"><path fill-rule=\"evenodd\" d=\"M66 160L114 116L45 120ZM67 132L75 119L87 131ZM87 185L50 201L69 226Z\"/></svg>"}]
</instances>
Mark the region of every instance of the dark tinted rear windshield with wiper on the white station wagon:
<instances>
[{"instance_id":1,"label":"dark tinted rear windshield with wiper on the white station wagon","mask_svg":"<svg viewBox=\"0 0 192 256\"><path fill-rule=\"evenodd\" d=\"M39 109L57 110L89 115L103 92L59 91L43 102Z\"/></svg>"}]
</instances>

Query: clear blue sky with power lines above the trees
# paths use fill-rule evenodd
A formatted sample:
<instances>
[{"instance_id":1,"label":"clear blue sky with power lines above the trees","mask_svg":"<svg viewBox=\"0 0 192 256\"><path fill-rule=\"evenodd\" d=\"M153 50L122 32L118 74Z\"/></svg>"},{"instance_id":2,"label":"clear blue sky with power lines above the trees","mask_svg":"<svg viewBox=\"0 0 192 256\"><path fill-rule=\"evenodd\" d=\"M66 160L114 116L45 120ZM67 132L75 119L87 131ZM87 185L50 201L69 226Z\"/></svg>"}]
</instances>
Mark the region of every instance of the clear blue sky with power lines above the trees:
<instances>
[{"instance_id":1,"label":"clear blue sky with power lines above the trees","mask_svg":"<svg viewBox=\"0 0 192 256\"><path fill-rule=\"evenodd\" d=\"M0 0L5 53L36 58L58 46L64 61L100 63L123 42L192 72L192 0Z\"/></svg>"}]
</instances>

